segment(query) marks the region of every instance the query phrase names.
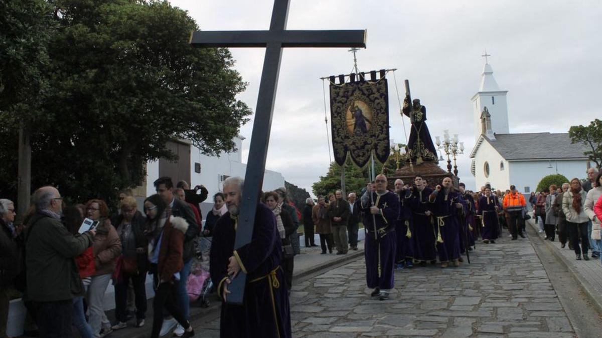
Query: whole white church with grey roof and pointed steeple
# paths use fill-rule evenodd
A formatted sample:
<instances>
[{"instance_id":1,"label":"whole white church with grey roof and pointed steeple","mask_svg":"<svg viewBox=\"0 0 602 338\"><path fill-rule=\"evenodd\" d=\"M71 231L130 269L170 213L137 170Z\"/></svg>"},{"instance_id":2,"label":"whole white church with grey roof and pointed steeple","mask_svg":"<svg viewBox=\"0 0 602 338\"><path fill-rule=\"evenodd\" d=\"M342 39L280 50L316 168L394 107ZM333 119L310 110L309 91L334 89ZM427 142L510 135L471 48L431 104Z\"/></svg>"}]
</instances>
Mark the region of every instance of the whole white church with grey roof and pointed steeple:
<instances>
[{"instance_id":1,"label":"whole white church with grey roof and pointed steeple","mask_svg":"<svg viewBox=\"0 0 602 338\"><path fill-rule=\"evenodd\" d=\"M495 189L515 185L524 194L535 191L542 177L562 174L586 177L587 149L571 144L568 133L510 134L507 90L500 90L493 69L485 63L479 91L472 97L476 144L470 153L470 171L477 191L490 183ZM568 126L567 126L568 129Z\"/></svg>"}]
</instances>

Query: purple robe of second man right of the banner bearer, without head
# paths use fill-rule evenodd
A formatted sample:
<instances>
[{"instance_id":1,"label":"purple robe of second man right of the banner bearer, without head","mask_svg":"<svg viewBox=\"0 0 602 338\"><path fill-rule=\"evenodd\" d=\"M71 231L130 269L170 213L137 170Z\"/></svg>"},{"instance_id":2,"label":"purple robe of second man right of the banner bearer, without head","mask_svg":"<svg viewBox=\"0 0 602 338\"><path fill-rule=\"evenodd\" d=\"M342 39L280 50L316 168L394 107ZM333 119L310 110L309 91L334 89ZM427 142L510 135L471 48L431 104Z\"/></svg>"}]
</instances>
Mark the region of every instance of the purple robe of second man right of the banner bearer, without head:
<instances>
[{"instance_id":1,"label":"purple robe of second man right of the banner bearer, without head","mask_svg":"<svg viewBox=\"0 0 602 338\"><path fill-rule=\"evenodd\" d=\"M409 207L412 209L412 220L414 231L412 240L414 242L414 258L420 262L436 260L435 230L431 217L425 213L430 210L429 195L433 189L426 187L423 191L414 188L409 198Z\"/></svg>"}]
</instances>

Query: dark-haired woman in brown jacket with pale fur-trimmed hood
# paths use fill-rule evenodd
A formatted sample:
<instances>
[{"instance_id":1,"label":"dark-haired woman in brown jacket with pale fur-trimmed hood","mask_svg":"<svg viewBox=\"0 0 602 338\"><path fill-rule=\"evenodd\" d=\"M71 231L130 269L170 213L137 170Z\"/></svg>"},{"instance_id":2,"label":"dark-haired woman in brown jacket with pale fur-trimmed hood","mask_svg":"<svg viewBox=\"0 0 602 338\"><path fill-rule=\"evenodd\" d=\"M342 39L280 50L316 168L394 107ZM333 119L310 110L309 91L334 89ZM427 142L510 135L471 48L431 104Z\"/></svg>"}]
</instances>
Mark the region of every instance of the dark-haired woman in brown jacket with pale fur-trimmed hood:
<instances>
[{"instance_id":1,"label":"dark-haired woman in brown jacket with pale fur-trimmed hood","mask_svg":"<svg viewBox=\"0 0 602 338\"><path fill-rule=\"evenodd\" d=\"M184 218L173 217L167 209L167 204L160 195L155 194L144 200L146 213L146 234L148 240L149 274L153 275L155 298L153 299L152 338L158 338L163 325L163 309L184 328L182 337L194 336L190 323L182 315L175 301L174 283L179 280L179 271L184 266L182 248L184 233L188 223Z\"/></svg>"}]
</instances>

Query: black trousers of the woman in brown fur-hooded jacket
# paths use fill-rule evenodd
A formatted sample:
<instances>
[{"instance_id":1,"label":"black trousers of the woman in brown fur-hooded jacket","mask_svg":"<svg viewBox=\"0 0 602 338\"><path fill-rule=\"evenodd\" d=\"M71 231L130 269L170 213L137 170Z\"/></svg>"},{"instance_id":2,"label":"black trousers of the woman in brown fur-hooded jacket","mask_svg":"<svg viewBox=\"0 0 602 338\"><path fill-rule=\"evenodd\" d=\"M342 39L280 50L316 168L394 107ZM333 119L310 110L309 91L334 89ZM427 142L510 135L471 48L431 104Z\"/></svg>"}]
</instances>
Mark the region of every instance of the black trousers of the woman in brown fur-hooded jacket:
<instances>
[{"instance_id":1,"label":"black trousers of the woman in brown fur-hooded jacket","mask_svg":"<svg viewBox=\"0 0 602 338\"><path fill-rule=\"evenodd\" d=\"M154 275L155 285L159 283L157 274ZM173 318L182 325L184 330L188 330L190 324L182 315L182 309L178 307L175 298L175 286L171 282L161 283L155 290L155 298L152 301L153 319L152 319L152 338L159 338L161 325L163 325L163 309L167 310Z\"/></svg>"}]
</instances>

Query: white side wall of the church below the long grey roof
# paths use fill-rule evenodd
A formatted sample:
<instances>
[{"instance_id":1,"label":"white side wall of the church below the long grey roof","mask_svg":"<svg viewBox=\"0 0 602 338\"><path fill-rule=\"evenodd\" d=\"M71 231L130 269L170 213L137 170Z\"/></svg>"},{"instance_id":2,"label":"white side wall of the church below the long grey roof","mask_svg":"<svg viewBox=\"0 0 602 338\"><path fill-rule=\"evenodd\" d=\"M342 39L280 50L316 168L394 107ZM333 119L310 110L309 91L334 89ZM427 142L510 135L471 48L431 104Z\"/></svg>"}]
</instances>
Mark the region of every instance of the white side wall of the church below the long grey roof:
<instances>
[{"instance_id":1,"label":"white side wall of the church below the long grey roof","mask_svg":"<svg viewBox=\"0 0 602 338\"><path fill-rule=\"evenodd\" d=\"M551 168L548 168L550 165ZM517 186L520 192L529 193L535 191L539 181L547 175L559 173L569 180L573 177L584 179L587 176L586 165L586 160L510 161L510 184ZM526 187L529 187L529 191L526 191Z\"/></svg>"}]
</instances>

